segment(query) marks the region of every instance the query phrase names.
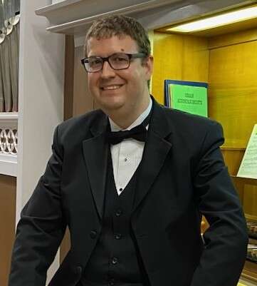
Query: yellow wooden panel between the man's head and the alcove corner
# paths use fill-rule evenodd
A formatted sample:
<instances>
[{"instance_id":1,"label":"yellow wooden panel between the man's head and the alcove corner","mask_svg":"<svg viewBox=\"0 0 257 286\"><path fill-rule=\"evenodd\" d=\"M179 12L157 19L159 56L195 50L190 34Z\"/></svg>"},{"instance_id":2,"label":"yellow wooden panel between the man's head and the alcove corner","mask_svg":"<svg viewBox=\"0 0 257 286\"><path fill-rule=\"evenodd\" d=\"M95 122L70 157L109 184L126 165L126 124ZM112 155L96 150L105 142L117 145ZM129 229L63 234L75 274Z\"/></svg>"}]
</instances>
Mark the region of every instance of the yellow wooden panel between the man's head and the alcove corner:
<instances>
[{"instance_id":1,"label":"yellow wooden panel between the man's head and the alcove corner","mask_svg":"<svg viewBox=\"0 0 257 286\"><path fill-rule=\"evenodd\" d=\"M208 81L208 40L196 36L154 32L152 94L164 102L164 79Z\"/></svg>"}]
</instances>

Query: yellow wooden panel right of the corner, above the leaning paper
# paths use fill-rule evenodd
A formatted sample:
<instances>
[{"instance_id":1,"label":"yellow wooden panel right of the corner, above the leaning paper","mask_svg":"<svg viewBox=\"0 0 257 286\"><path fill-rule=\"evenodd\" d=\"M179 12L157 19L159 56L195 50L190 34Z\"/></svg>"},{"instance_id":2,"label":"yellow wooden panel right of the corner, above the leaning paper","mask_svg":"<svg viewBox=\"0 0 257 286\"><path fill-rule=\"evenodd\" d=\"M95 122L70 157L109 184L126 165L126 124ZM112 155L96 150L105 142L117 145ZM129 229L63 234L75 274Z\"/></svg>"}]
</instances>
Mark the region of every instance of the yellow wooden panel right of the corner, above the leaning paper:
<instances>
[{"instance_id":1,"label":"yellow wooden panel right of the corner, above the leaning paper","mask_svg":"<svg viewBox=\"0 0 257 286\"><path fill-rule=\"evenodd\" d=\"M256 51L257 41L210 51L209 116L221 122L230 148L245 148L257 123Z\"/></svg>"}]
</instances>

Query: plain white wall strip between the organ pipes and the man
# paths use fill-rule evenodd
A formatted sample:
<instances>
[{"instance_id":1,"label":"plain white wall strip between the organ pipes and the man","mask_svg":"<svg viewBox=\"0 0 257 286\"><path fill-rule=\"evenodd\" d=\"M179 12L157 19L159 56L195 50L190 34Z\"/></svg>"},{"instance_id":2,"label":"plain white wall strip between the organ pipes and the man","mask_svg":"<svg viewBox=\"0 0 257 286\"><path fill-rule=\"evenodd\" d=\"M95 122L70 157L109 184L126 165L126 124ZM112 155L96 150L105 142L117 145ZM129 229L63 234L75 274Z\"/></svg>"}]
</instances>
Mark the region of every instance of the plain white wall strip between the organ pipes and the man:
<instances>
[{"instance_id":1,"label":"plain white wall strip between the organ pipes and the man","mask_svg":"<svg viewBox=\"0 0 257 286\"><path fill-rule=\"evenodd\" d=\"M63 121L64 36L46 31L35 10L51 0L21 0L19 58L19 154L16 223L46 168L55 126ZM58 257L49 272L58 266Z\"/></svg>"}]
</instances>

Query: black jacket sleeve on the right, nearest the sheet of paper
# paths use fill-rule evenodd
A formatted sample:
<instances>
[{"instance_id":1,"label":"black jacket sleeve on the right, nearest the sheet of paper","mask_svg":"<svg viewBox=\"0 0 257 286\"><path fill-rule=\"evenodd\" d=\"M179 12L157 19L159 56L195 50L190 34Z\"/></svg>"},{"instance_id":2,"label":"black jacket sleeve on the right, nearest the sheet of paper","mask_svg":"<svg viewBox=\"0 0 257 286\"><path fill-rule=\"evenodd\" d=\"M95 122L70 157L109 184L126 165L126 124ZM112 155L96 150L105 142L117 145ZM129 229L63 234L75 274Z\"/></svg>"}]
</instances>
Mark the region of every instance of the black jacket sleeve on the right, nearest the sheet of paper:
<instances>
[{"instance_id":1,"label":"black jacket sleeve on the right, nearest the sheet of paper","mask_svg":"<svg viewBox=\"0 0 257 286\"><path fill-rule=\"evenodd\" d=\"M194 189L199 212L210 225L191 286L235 286L246 259L248 234L238 194L219 148L219 123L211 122L201 143Z\"/></svg>"}]
</instances>

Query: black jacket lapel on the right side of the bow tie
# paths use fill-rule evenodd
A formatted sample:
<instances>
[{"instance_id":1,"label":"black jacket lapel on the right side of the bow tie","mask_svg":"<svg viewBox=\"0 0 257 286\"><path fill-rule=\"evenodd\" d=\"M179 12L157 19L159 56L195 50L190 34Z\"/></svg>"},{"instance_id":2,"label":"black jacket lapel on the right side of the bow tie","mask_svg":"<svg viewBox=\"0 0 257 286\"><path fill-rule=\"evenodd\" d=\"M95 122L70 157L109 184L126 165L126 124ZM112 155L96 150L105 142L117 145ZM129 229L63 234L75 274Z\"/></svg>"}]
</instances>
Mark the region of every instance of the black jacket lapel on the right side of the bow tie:
<instances>
[{"instance_id":1,"label":"black jacket lapel on the right side of the bow tie","mask_svg":"<svg viewBox=\"0 0 257 286\"><path fill-rule=\"evenodd\" d=\"M152 101L154 109L140 167L134 210L149 192L172 148L172 143L166 140L171 133L167 118L159 104L153 98Z\"/></svg>"}]
</instances>

